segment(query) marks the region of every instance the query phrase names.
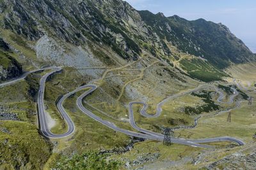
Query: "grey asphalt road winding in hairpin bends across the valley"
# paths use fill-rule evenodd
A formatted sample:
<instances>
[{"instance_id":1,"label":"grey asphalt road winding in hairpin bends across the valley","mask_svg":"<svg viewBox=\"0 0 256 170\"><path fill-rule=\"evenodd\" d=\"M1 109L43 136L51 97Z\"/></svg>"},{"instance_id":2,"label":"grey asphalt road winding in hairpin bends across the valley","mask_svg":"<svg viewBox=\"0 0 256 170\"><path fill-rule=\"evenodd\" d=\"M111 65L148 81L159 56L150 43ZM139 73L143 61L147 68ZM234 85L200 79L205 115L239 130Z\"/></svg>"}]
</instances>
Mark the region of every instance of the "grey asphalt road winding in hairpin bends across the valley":
<instances>
[{"instance_id":1,"label":"grey asphalt road winding in hairpin bends across the valley","mask_svg":"<svg viewBox=\"0 0 256 170\"><path fill-rule=\"evenodd\" d=\"M61 99L58 101L58 103L57 103L58 111L60 111L60 114L62 115L63 119L65 120L65 122L67 122L68 130L67 130L67 132L65 132L63 134L54 134L54 133L51 132L51 130L49 129L49 126L47 125L47 118L46 118L45 104L44 104L45 82L47 81L47 78L49 76L51 76L51 74L54 74L54 73L57 73L58 71L61 71L61 67L47 67L45 69L52 69L52 71L47 73L47 74L45 74L40 79L40 89L38 91L37 106L38 106L38 119L39 119L38 123L40 125L40 131L42 132L42 135L44 135L46 138L65 138L67 136L70 136L70 134L72 134L75 131L74 122L72 122L72 119L68 116L68 113L63 108L63 102L65 101L65 99L67 99L67 97L72 96L76 92L79 92L80 90L84 90L84 89L90 88L90 90L87 90L81 96L79 96L77 98L77 107L79 108L79 110L81 110L88 117L93 118L93 120L96 120L97 122L99 122L102 125L106 125L110 129L113 129L114 131L122 132L124 134L129 135L129 136L134 136L136 138L144 138L144 139L152 139L152 140L157 140L157 141L163 141L163 138L164 138L163 134L159 134L159 133L156 133L156 132L148 131L146 129L141 129L140 127L138 127L136 125L136 123L134 121L132 105L133 104L143 104L143 108L141 109L140 113L141 113L141 115L143 115L145 117L159 117L161 115L161 111L162 111L161 106L163 106L163 104L166 101L168 101L169 99L174 99L175 97L179 97L179 96L182 96L184 94L189 94L191 92L195 92L195 91L200 90L200 89L202 89L202 88L204 88L206 86L209 87L209 85L200 85L196 89L189 90L188 92L183 92L181 94L170 96L170 97L164 99L164 101L162 101L161 103L157 104L157 113L155 115L150 115L150 114L146 113L146 110L148 108L147 103L142 103L142 102L132 102L132 103L129 103L129 120L130 120L130 124L131 124L131 126L134 129L139 131L139 132L132 132L132 131L128 131L126 129L122 129L120 127L117 127L115 124L113 124L111 122L108 122L106 120L103 120L102 118L100 118L97 115L93 114L92 111L86 109L83 106L83 99L84 99L84 97L86 97L89 94L91 94L92 92L94 92L97 89L97 86L96 85L83 85L83 86L77 88L76 90L74 90L72 92L69 92L65 96L61 97ZM17 78L15 80L8 81L6 83L0 84L0 87L3 87L5 85L11 85L12 83L15 83L17 81L24 80L24 78L26 78L26 76L28 76L28 74L35 73L36 71L44 71L45 69L37 69L35 71L29 71L28 73L25 73L22 76L20 76L20 78ZM220 96L220 97L222 97L222 96ZM220 97L219 97L219 99L221 101ZM232 97L232 98L230 97L230 102L233 102L234 97ZM172 140L172 143L177 143L177 144L182 144L182 145L189 145L189 146L195 146L195 147L202 147L202 148L212 148L213 146L202 145L200 143L211 143L211 142L217 142L217 141L232 141L234 143L237 143L238 145L244 145L243 141L241 141L239 139L236 139L236 138L231 138L231 137L195 139L195 140L193 140L193 139L189 139L188 140L188 139L172 138L171 140Z\"/></svg>"}]
</instances>

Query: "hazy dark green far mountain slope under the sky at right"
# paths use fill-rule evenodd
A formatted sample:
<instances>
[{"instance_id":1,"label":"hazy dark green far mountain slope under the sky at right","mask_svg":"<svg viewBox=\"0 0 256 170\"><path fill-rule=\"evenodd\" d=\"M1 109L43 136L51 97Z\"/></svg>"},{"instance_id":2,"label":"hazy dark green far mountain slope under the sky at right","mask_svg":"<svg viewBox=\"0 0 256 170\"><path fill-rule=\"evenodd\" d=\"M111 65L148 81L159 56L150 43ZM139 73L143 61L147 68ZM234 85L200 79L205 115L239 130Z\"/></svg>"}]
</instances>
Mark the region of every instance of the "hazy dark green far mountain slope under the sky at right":
<instances>
[{"instance_id":1,"label":"hazy dark green far mountain slope under the sky at right","mask_svg":"<svg viewBox=\"0 0 256 170\"><path fill-rule=\"evenodd\" d=\"M179 50L198 57L204 57L212 64L223 68L230 63L247 62L253 58L253 53L222 24L207 22L204 19L185 20L177 15L164 17L154 15L150 11L139 11L143 20L157 34Z\"/></svg>"}]
</instances>

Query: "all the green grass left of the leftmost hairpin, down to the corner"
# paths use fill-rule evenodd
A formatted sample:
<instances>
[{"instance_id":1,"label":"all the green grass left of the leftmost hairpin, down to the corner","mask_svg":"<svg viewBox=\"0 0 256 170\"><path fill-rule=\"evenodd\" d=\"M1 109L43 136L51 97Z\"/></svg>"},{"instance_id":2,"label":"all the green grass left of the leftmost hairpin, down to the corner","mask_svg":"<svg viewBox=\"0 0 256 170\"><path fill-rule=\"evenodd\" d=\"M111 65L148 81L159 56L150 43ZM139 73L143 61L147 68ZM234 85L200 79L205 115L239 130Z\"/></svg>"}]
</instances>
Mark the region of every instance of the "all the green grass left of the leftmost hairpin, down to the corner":
<instances>
[{"instance_id":1,"label":"all the green grass left of the leftmost hairpin, down to the corner","mask_svg":"<svg viewBox=\"0 0 256 170\"><path fill-rule=\"evenodd\" d=\"M36 88L37 79L20 81L0 89L1 103L16 113L20 121L0 121L0 169L42 169L51 155L51 145L38 133L36 105L29 90ZM1 104L1 105L2 105ZM26 122L24 122L26 121ZM6 143L4 141L7 141Z\"/></svg>"}]
</instances>

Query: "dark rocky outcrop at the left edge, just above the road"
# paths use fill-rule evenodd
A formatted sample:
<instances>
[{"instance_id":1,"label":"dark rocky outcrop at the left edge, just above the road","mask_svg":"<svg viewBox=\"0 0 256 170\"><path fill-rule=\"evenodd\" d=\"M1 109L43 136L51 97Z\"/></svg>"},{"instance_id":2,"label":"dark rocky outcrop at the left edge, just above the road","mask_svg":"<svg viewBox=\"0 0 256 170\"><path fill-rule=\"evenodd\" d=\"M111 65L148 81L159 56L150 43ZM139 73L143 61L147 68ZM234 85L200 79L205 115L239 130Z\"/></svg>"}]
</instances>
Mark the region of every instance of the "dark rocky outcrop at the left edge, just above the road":
<instances>
[{"instance_id":1,"label":"dark rocky outcrop at the left edge, just above the road","mask_svg":"<svg viewBox=\"0 0 256 170\"><path fill-rule=\"evenodd\" d=\"M7 54L8 45L0 38L0 81L6 81L22 74L22 67Z\"/></svg>"}]
</instances>

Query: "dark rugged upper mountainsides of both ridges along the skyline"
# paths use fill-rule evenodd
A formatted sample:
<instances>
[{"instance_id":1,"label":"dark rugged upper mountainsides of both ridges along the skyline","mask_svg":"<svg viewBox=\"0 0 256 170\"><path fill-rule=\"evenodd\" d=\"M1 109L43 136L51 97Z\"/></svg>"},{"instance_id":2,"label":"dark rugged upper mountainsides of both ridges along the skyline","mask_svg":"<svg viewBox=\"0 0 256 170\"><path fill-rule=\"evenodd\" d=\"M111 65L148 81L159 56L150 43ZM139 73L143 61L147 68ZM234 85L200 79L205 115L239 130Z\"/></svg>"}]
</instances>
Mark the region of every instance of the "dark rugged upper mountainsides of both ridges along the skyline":
<instances>
[{"instance_id":1,"label":"dark rugged upper mountainsides of both ridges along the skyline","mask_svg":"<svg viewBox=\"0 0 256 170\"><path fill-rule=\"evenodd\" d=\"M255 59L225 25L136 11L121 0L4 0L0 10L3 27L26 39L47 34L74 45L108 46L127 60L143 51L172 60L170 45L220 68Z\"/></svg>"}]
</instances>

